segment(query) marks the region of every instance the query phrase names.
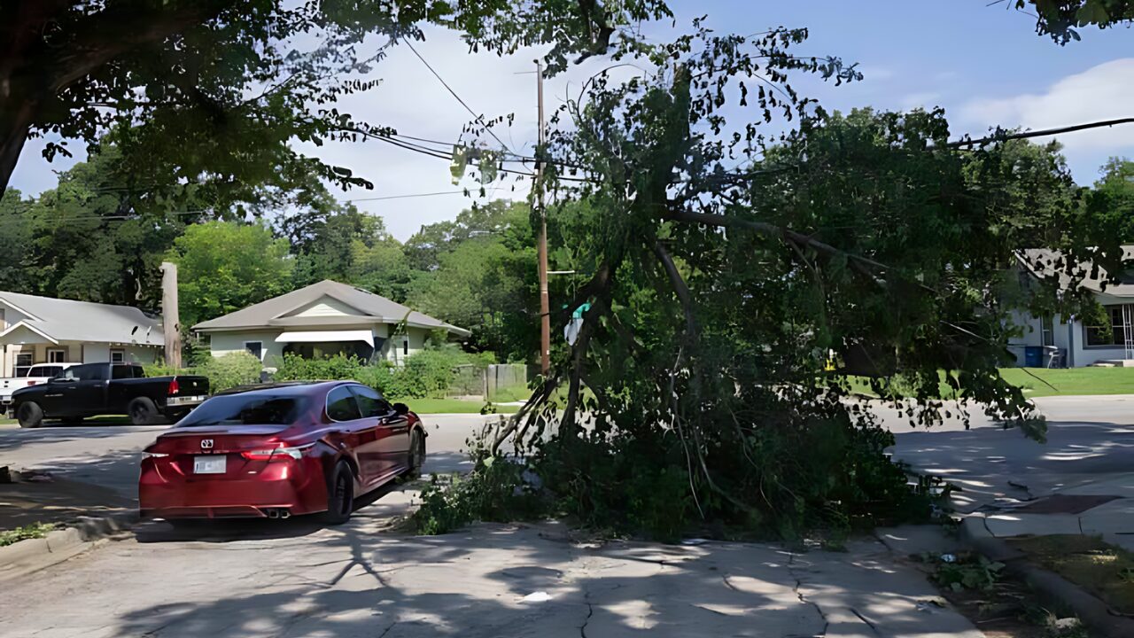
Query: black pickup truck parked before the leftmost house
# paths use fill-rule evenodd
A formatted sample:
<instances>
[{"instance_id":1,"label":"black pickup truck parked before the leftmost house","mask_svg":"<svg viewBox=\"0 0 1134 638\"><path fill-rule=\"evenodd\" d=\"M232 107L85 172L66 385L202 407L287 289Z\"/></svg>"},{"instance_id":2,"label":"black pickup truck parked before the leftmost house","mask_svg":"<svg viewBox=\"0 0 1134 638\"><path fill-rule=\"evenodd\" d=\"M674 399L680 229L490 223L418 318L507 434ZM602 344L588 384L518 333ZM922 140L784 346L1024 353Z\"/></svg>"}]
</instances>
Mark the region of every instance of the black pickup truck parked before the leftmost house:
<instances>
[{"instance_id":1,"label":"black pickup truck parked before the leftmost house","mask_svg":"<svg viewBox=\"0 0 1134 638\"><path fill-rule=\"evenodd\" d=\"M37 428L43 419L76 423L100 414L128 414L132 423L142 426L162 418L177 421L208 395L205 377L147 378L137 364L84 363L14 392L11 408L24 428Z\"/></svg>"}]
</instances>

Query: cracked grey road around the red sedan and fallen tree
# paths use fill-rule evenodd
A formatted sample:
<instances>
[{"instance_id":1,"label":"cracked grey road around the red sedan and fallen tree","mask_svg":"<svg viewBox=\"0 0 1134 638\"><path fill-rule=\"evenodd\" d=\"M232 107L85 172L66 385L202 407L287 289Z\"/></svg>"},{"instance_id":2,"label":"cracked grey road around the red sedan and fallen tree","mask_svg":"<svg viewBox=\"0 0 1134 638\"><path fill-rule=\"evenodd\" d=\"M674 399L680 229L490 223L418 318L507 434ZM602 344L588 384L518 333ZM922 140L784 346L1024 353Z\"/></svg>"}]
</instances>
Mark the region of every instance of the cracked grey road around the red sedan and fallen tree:
<instances>
[{"instance_id":1,"label":"cracked grey road around the red sedan and fallen tree","mask_svg":"<svg viewBox=\"0 0 1134 638\"><path fill-rule=\"evenodd\" d=\"M1047 445L983 419L923 431L877 412L896 433L897 457L963 485L972 506L1129 473L1134 397L1038 403L1050 420ZM462 469L465 439L483 421L426 419L426 470ZM0 427L0 464L130 494L139 451L160 431ZM925 604L934 590L877 542L799 556L763 545L586 543L555 524L412 537L391 529L409 507L403 489L336 528L302 517L189 532L143 523L6 581L0 636L980 636Z\"/></svg>"}]
</instances>

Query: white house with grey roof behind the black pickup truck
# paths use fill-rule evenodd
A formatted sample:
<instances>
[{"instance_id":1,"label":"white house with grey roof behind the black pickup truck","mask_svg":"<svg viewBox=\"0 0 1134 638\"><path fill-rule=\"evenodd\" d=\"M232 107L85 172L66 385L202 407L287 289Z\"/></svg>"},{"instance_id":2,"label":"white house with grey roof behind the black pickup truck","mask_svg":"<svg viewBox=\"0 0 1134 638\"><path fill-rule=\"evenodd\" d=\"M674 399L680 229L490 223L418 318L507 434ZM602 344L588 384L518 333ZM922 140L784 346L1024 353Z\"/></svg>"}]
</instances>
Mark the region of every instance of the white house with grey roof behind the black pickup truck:
<instances>
[{"instance_id":1,"label":"white house with grey roof behind the black pickup truck","mask_svg":"<svg viewBox=\"0 0 1134 638\"><path fill-rule=\"evenodd\" d=\"M137 308L0 292L2 373L34 363L153 363L161 321Z\"/></svg>"}]
</instances>

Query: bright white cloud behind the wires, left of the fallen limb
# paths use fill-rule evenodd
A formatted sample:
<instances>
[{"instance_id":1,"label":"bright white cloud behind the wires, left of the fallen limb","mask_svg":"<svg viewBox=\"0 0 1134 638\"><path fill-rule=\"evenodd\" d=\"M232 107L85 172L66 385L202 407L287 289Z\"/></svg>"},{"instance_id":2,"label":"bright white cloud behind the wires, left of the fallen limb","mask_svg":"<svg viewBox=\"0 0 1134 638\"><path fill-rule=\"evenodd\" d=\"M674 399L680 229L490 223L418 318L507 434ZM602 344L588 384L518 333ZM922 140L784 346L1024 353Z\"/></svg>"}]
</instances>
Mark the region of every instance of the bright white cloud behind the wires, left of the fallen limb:
<instances>
[{"instance_id":1,"label":"bright white cloud behind the wires, left of the fallen limb","mask_svg":"<svg viewBox=\"0 0 1134 638\"><path fill-rule=\"evenodd\" d=\"M536 137L535 70L533 60L540 50L525 48L515 54L498 57L493 53L472 53L459 36L442 30L429 30L425 42L414 43L422 57L433 66L452 90L477 114L491 119L515 115L511 126L507 123L493 129L508 148L530 156ZM376 47L378 41L369 43ZM366 54L365 48L359 48ZM592 58L573 67L567 73L547 79L544 104L548 118L562 106L569 94L577 96L582 83L592 74L610 66L609 58ZM619 69L619 77L633 69ZM521 74L521 75L518 75ZM612 74L613 75L613 74ZM374 65L370 78L381 78L381 84L365 93L348 95L339 101L338 108L350 112L357 119L374 125L395 127L398 133L447 143L471 141L462 129L473 120L473 116L433 77L413 52L404 47L395 47L387 59ZM321 107L325 108L325 107ZM488 135L482 141L499 146ZM71 143L71 148L83 146ZM73 162L60 161L49 165L40 156L42 144L28 143L20 156L11 185L25 194L37 194L54 187L56 176L50 170L62 170ZM77 150L77 149L76 149ZM328 142L323 146L304 144L297 146L304 153L314 154L329 163L349 168L356 175L374 184L374 190L355 188L342 192L332 188L342 200L381 198L460 191L468 187L474 194L480 186L466 179L454 186L449 163L442 159L425 157L378 141L358 143ZM511 165L531 170L531 166ZM508 179L489 186L488 201L493 198L524 199L528 183ZM473 200L462 194L406 198L391 200L358 201L356 205L366 212L384 218L387 228L399 240L407 240L424 224L452 219Z\"/></svg>"}]
</instances>

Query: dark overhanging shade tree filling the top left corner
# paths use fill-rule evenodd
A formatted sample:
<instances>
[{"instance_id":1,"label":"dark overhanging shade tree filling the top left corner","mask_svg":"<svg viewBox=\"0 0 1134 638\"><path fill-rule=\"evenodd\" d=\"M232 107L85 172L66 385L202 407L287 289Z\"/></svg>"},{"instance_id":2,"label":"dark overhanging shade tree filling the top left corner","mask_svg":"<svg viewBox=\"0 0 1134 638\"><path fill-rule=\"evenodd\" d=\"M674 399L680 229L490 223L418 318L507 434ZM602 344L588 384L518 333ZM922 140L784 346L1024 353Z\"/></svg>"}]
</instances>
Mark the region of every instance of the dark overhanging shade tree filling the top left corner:
<instances>
[{"instance_id":1,"label":"dark overhanging shade tree filling the top left corner","mask_svg":"<svg viewBox=\"0 0 1134 638\"><path fill-rule=\"evenodd\" d=\"M208 182L225 199L312 168L369 185L295 141L393 132L335 108L386 47L440 25L472 49L553 43L550 61L606 52L626 25L660 17L660 0L42 0L0 5L0 191L28 136L59 135L45 156L92 145L116 124L137 186ZM384 36L367 48L367 35ZM372 41L371 41L372 42ZM615 42L613 45L620 45Z\"/></svg>"}]
</instances>

